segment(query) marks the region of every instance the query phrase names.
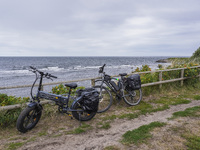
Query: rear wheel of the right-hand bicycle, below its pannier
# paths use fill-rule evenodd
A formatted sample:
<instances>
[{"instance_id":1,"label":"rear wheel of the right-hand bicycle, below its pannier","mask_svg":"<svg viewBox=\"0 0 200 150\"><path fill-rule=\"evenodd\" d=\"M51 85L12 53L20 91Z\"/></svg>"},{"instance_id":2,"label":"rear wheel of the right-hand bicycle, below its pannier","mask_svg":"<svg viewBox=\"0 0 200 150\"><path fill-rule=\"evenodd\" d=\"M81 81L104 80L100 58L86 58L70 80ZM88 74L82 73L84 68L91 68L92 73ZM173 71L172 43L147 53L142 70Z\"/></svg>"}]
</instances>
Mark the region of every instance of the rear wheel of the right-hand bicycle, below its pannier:
<instances>
[{"instance_id":1,"label":"rear wheel of the right-hand bicycle, below its pannier","mask_svg":"<svg viewBox=\"0 0 200 150\"><path fill-rule=\"evenodd\" d=\"M135 106L140 103L142 100L142 89L139 90L123 90L123 99L124 101L130 105Z\"/></svg>"}]
</instances>

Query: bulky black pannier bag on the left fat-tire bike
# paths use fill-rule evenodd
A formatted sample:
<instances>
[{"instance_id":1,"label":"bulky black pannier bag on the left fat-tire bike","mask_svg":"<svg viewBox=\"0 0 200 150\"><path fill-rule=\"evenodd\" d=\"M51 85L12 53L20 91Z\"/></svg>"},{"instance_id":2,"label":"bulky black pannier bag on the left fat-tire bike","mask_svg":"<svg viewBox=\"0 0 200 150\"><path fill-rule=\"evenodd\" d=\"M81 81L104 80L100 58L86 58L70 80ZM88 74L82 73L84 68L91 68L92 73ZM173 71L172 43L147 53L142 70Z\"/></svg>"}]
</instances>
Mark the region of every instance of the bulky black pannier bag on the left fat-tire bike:
<instances>
[{"instance_id":1,"label":"bulky black pannier bag on the left fat-tire bike","mask_svg":"<svg viewBox=\"0 0 200 150\"><path fill-rule=\"evenodd\" d=\"M99 105L99 92L94 88L86 88L77 91L78 96L82 96L83 109L87 113L97 112Z\"/></svg>"}]
</instances>

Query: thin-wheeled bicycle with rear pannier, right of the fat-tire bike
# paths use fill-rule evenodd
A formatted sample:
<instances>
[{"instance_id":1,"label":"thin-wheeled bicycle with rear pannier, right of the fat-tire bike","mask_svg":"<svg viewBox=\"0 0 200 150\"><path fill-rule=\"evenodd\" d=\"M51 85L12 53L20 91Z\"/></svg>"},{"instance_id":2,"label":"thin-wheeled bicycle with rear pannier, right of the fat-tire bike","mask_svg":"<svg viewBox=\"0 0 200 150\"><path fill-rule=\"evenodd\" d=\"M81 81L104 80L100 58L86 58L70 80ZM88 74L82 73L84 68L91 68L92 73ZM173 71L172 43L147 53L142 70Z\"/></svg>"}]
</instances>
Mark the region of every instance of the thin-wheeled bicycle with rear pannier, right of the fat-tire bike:
<instances>
[{"instance_id":1,"label":"thin-wheeled bicycle with rear pannier, right of the fat-tire bike","mask_svg":"<svg viewBox=\"0 0 200 150\"><path fill-rule=\"evenodd\" d=\"M111 92L116 94L118 102L123 98L123 100L130 106L139 104L142 99L139 75L135 74L125 77L127 76L127 73L121 73L119 74L121 79L114 78L104 72L105 65L106 64L99 68L101 79L95 80L95 84L98 85L94 86L94 88L100 93L98 113L105 112L111 107L113 102Z\"/></svg>"}]
</instances>

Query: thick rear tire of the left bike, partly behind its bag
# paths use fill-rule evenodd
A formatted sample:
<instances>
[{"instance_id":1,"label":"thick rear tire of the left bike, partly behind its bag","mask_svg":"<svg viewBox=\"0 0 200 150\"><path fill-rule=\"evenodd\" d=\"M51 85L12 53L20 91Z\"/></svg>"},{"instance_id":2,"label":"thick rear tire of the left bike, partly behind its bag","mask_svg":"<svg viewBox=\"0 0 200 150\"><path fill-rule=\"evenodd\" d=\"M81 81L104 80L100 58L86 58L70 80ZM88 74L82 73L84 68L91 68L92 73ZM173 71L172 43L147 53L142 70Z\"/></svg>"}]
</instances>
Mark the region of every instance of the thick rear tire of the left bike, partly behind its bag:
<instances>
[{"instance_id":1,"label":"thick rear tire of the left bike, partly behind its bag","mask_svg":"<svg viewBox=\"0 0 200 150\"><path fill-rule=\"evenodd\" d=\"M73 110L83 110L83 108L81 107L81 104L79 102L76 102L73 106L72 106ZM79 113L80 113L80 117L79 117ZM86 111L83 112L78 112L78 111L72 111L72 115L75 119L79 120L79 121L88 121L91 120L95 115L96 115L96 111L95 112L91 112L91 113L87 113ZM86 115L86 116L84 116Z\"/></svg>"}]
</instances>

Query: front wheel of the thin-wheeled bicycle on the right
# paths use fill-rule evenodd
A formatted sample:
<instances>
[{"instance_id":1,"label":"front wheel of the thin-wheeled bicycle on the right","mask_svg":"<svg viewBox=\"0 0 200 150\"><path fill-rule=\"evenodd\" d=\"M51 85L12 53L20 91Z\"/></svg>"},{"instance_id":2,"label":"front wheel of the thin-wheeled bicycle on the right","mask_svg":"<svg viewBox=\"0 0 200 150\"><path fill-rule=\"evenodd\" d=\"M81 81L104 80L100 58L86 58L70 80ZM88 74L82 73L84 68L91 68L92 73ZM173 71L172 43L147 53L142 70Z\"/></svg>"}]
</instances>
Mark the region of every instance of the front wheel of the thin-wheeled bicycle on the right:
<instances>
[{"instance_id":1,"label":"front wheel of the thin-wheeled bicycle on the right","mask_svg":"<svg viewBox=\"0 0 200 150\"><path fill-rule=\"evenodd\" d=\"M104 86L94 86L94 88L99 92L99 107L98 107L98 113L102 113L107 111L113 102L112 94L110 91L104 87Z\"/></svg>"}]
</instances>

